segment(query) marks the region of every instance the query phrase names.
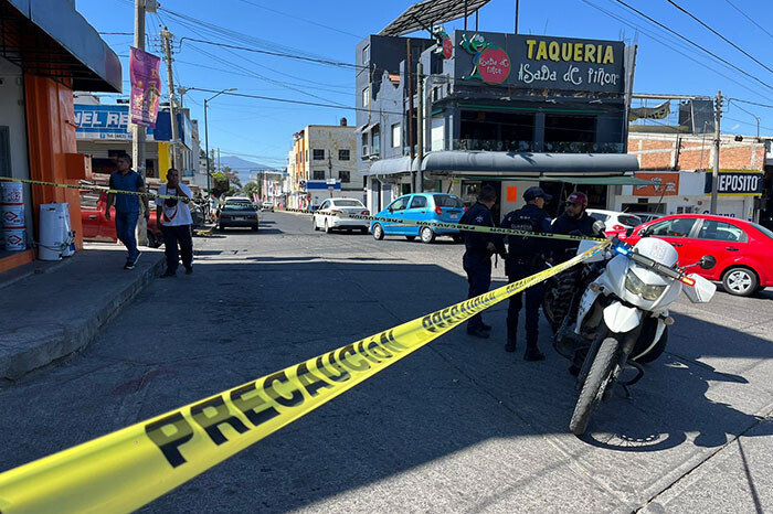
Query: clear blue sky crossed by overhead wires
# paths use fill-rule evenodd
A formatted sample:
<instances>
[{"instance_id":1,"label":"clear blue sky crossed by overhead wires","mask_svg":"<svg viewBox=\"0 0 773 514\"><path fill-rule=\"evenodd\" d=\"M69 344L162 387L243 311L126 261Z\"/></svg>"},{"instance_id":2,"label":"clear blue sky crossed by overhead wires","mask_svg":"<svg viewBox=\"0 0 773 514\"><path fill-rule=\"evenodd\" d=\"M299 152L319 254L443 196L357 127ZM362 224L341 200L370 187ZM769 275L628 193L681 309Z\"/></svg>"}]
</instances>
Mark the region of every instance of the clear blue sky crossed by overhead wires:
<instances>
[{"instance_id":1,"label":"clear blue sky crossed by overhead wires","mask_svg":"<svg viewBox=\"0 0 773 514\"><path fill-rule=\"evenodd\" d=\"M769 23L773 20L773 2L675 1L773 68L773 26ZM413 0L162 0L161 3L162 10L158 14L147 15L147 33L151 43L148 50L156 54L160 54L157 34L167 24L178 42L187 36L353 63L354 45L368 34L378 33L410 7ZM512 32L515 3L515 0L491 0L480 10L479 29ZM626 3L754 78L718 64L701 51L627 10L616 0L520 0L519 32L624 40L628 44L636 42L639 45L634 86L636 93L713 96L721 89L727 97L773 105L773 73L700 26L667 0L626 0ZM97 31L134 30L131 0L77 0L76 6ZM764 29L755 26L739 10ZM204 22L209 26L181 19L174 13ZM457 21L445 26L451 31L460 25L462 21ZM474 26L473 19L469 26ZM103 38L123 56L126 93L128 47L133 39L130 35L117 34L105 34ZM354 105L354 75L351 68L190 41L183 41L181 46L178 44L176 52L176 82L186 87L215 90L236 87L239 93L251 95ZM200 121L203 120L203 99L211 96L200 92L190 92L184 96L186 106L191 108L193 117ZM108 96L103 101L109 103L113 98ZM726 104L726 109L723 132L754 135L754 116L759 116L761 135L773 136L773 108L731 101L729 106ZM223 154L237 154L251 161L278 167L286 161L294 132L306 125L337 124L342 116L350 121L354 119L352 110L342 108L287 105L223 95L210 104L210 148L221 148ZM203 128L203 121L201 125Z\"/></svg>"}]
</instances>

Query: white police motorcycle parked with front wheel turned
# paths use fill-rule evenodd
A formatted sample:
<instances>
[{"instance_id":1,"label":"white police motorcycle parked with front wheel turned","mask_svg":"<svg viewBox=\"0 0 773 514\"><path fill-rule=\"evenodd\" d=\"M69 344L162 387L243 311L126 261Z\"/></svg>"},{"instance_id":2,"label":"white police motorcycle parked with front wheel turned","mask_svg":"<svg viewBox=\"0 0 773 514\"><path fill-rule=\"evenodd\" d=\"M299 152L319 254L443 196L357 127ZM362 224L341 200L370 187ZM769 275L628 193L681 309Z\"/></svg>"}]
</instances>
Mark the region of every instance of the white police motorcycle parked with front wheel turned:
<instances>
[{"instance_id":1,"label":"white police motorcycle parked with front wheel turned","mask_svg":"<svg viewBox=\"0 0 773 514\"><path fill-rule=\"evenodd\" d=\"M579 253L594 244L583 242ZM663 353L667 326L674 323L668 307L679 293L685 291L693 303L706 303L717 290L705 278L685 272L692 266L712 268L717 264L713 257L705 256L680 268L677 251L663 239L643 238L634 247L614 240L611 249L590 260L604 259L610 259L606 267L580 300L573 330L570 334L561 331L569 338L560 334L557 340L557 350L568 358L578 362L585 354L578 375L580 397L569 424L578 436L585 432L599 403L611 397L625 366L637 371L633 379L621 381L627 394L627 386L644 375L640 363Z\"/></svg>"}]
</instances>

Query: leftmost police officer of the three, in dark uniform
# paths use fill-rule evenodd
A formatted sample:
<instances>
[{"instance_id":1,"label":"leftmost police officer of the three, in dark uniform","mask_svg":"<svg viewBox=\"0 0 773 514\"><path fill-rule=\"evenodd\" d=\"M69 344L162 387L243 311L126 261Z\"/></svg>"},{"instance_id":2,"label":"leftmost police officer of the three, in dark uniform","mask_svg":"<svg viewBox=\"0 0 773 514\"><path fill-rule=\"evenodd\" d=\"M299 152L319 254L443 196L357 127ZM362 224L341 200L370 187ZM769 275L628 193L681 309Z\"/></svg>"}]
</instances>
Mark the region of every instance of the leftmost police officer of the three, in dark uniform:
<instances>
[{"instance_id":1,"label":"leftmost police officer of the three, in dark uniform","mask_svg":"<svg viewBox=\"0 0 773 514\"><path fill-rule=\"evenodd\" d=\"M490 208L497 202L497 192L490 185L484 185L478 194L478 201L467 210L459 223L463 225L479 225L494 227ZM491 286L491 255L505 254L505 245L495 244L494 234L485 232L464 233L465 253L462 260L469 289L467 298L475 298L488 292ZM483 322L478 313L467 322L467 333L476 338L488 339L491 326Z\"/></svg>"}]
</instances>

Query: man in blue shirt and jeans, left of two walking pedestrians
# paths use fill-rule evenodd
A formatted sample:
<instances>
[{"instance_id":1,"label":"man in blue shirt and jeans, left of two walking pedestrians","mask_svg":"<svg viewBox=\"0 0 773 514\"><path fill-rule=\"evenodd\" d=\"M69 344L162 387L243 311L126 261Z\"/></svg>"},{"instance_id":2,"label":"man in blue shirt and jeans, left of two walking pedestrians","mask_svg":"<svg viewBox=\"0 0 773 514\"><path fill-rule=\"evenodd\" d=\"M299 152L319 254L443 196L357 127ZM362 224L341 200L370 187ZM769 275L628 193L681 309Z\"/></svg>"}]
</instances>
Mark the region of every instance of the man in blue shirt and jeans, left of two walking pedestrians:
<instances>
[{"instance_id":1,"label":"man in blue shirt and jeans, left of two walking pedestrians","mask_svg":"<svg viewBox=\"0 0 773 514\"><path fill-rule=\"evenodd\" d=\"M116 161L118 169L110 173L110 189L133 193L145 193L142 175L131 169L131 158L126 153L118 156ZM129 255L126 258L124 269L134 269L141 251L137 249L137 221L139 219L139 202L145 206L145 219L150 217L148 197L137 194L108 193L105 219L110 219L110 207L116 207L116 234L126 246Z\"/></svg>"}]
</instances>

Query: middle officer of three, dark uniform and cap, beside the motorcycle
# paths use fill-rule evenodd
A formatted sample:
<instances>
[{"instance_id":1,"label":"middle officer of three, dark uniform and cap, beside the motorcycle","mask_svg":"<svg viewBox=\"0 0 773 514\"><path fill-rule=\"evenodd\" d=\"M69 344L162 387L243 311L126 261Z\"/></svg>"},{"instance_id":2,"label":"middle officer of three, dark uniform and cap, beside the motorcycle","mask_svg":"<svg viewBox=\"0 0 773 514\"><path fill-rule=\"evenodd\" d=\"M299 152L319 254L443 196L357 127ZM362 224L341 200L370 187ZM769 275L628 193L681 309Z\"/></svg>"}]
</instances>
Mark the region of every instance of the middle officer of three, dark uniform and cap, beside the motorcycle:
<instances>
[{"instance_id":1,"label":"middle officer of three, dark uniform and cap, beside the motorcycle","mask_svg":"<svg viewBox=\"0 0 773 514\"><path fill-rule=\"evenodd\" d=\"M552 199L541 188L529 188L523 192L526 205L509 213L502 219L502 228L517 231L550 233L550 216L542 210ZM501 237L501 236L499 236ZM507 236L508 251L505 260L505 272L509 282L515 282L547 268L546 257L550 254L550 239L528 236ZM540 306L544 297L544 286L537 283L523 292L510 297L507 309L507 344L505 351L515 352L518 341L518 315L526 296L526 353L525 361L544 361L544 354L539 351Z\"/></svg>"}]
</instances>

